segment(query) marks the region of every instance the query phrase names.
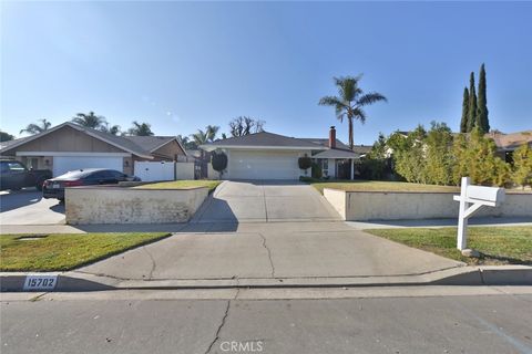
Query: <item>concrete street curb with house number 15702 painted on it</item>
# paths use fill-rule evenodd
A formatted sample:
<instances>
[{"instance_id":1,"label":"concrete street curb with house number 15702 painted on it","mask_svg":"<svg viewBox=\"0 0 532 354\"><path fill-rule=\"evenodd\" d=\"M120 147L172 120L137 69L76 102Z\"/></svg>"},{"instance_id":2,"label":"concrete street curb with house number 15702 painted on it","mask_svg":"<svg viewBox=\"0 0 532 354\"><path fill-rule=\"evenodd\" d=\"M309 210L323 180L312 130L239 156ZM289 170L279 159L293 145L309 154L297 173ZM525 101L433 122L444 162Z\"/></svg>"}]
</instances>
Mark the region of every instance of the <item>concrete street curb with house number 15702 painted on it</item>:
<instances>
[{"instance_id":1,"label":"concrete street curb with house number 15702 painted on it","mask_svg":"<svg viewBox=\"0 0 532 354\"><path fill-rule=\"evenodd\" d=\"M2 292L23 291L28 274L0 273ZM44 274L44 273L42 273ZM247 279L116 279L80 272L58 274L57 292L102 290L175 290L175 289L282 289L282 288L355 288L408 285L532 285L532 267L459 267L422 274L327 278L247 278ZM35 290L42 292L43 290Z\"/></svg>"}]
</instances>

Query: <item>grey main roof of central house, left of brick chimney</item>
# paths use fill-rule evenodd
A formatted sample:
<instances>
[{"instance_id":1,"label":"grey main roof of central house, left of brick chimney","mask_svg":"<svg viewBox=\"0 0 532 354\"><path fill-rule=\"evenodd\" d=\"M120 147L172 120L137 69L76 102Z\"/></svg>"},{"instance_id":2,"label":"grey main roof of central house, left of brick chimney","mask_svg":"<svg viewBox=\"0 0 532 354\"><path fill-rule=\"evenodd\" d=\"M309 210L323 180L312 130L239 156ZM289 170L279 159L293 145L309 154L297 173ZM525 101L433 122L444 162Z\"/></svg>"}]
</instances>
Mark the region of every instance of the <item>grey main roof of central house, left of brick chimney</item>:
<instances>
[{"instance_id":1,"label":"grey main roof of central house, left of brick chimney","mask_svg":"<svg viewBox=\"0 0 532 354\"><path fill-rule=\"evenodd\" d=\"M279 134L260 132L244 136L229 137L226 139L215 140L201 146L201 148L209 152L216 148L294 148L294 149L320 149L323 146L318 146L314 143L305 139L299 139L290 136L284 136Z\"/></svg>"}]
</instances>

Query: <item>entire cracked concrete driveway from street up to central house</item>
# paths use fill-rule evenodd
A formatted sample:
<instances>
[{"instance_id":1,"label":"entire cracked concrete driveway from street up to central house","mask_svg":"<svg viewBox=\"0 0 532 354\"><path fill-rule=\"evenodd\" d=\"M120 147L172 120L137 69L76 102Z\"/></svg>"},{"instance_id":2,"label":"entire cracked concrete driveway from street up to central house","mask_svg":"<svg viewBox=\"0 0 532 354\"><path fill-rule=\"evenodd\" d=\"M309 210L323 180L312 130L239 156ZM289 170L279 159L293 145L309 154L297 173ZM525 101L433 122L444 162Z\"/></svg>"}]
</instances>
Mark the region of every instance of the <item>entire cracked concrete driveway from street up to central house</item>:
<instances>
[{"instance_id":1,"label":"entire cracked concrete driveway from street up to central house","mask_svg":"<svg viewBox=\"0 0 532 354\"><path fill-rule=\"evenodd\" d=\"M208 281L408 275L461 266L355 230L309 186L226 181L180 232L79 271Z\"/></svg>"}]
</instances>

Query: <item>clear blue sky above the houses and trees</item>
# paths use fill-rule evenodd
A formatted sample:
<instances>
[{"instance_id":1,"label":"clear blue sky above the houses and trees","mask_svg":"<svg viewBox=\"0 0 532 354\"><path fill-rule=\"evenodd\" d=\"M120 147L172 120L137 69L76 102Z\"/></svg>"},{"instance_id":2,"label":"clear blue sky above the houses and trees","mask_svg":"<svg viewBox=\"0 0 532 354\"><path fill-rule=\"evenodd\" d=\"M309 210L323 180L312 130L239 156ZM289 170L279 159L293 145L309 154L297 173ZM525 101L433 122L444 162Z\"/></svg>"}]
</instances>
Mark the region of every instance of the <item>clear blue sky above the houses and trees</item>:
<instances>
[{"instance_id":1,"label":"clear blue sky above the houses and trees","mask_svg":"<svg viewBox=\"0 0 532 354\"><path fill-rule=\"evenodd\" d=\"M492 127L530 129L531 38L530 2L2 2L1 129L94 111L187 135L250 115L290 136L337 125L347 140L317 102L332 76L364 73L389 98L355 125L372 144L433 119L458 129L482 62Z\"/></svg>"}]
</instances>

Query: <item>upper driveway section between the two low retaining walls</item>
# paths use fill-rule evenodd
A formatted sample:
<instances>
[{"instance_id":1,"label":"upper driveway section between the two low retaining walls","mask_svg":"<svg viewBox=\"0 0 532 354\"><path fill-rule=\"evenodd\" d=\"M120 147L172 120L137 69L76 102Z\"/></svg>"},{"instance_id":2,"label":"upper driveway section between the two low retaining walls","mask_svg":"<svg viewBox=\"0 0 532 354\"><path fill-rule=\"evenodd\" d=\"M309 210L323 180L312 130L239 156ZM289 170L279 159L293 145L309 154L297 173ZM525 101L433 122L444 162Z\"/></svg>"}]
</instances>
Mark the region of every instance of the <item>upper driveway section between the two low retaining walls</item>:
<instances>
[{"instance_id":1,"label":"upper driveway section between the two low retaining walls","mask_svg":"<svg viewBox=\"0 0 532 354\"><path fill-rule=\"evenodd\" d=\"M193 222L331 221L339 215L299 181L224 181Z\"/></svg>"}]
</instances>

